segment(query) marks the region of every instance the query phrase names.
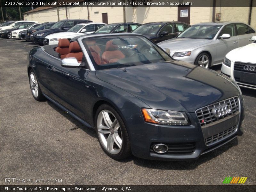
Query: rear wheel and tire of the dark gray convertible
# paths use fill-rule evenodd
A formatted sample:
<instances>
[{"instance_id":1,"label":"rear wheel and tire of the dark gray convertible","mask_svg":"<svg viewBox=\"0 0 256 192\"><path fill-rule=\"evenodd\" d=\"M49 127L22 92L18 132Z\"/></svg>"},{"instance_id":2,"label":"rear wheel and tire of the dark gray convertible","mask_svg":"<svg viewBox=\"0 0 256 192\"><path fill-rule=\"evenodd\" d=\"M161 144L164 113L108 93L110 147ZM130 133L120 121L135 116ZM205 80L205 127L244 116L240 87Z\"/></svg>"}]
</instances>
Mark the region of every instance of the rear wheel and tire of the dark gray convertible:
<instances>
[{"instance_id":1,"label":"rear wheel and tire of the dark gray convertible","mask_svg":"<svg viewBox=\"0 0 256 192\"><path fill-rule=\"evenodd\" d=\"M33 69L30 69L28 78L29 78L30 91L33 97L35 98L35 100L37 101L46 100L37 82L37 77Z\"/></svg>"}]
</instances>

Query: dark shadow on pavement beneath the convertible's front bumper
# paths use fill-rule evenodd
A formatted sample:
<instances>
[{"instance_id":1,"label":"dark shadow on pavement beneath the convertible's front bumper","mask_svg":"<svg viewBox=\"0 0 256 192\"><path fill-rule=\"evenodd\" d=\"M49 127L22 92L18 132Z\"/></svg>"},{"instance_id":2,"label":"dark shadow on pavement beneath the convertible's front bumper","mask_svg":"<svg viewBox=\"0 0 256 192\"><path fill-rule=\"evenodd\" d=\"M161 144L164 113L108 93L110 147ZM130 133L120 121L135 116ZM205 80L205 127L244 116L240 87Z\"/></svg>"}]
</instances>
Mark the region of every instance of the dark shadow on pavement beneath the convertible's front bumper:
<instances>
[{"instance_id":1,"label":"dark shadow on pavement beneath the convertible's front bumper","mask_svg":"<svg viewBox=\"0 0 256 192\"><path fill-rule=\"evenodd\" d=\"M154 160L147 160L147 159L140 159L137 157L130 157L130 161L133 160L134 164L142 167L147 167L150 169L158 169L158 170L192 170L196 169L197 166L204 164L211 159L220 156L228 149L238 145L237 138L231 140L227 144L217 148L209 153L206 153L202 156L199 156L197 160L191 161L154 161ZM127 162L129 159L126 159L121 162Z\"/></svg>"}]
</instances>

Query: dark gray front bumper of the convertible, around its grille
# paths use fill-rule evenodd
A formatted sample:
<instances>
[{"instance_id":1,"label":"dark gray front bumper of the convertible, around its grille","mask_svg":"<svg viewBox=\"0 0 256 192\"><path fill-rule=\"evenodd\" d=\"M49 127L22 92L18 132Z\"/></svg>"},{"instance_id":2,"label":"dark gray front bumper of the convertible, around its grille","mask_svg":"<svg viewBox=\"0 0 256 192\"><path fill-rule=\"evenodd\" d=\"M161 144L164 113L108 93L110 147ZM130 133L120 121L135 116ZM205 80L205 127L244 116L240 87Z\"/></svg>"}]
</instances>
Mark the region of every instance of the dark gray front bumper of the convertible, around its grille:
<instances>
[{"instance_id":1,"label":"dark gray front bumper of the convertible, around its grille","mask_svg":"<svg viewBox=\"0 0 256 192\"><path fill-rule=\"evenodd\" d=\"M244 101L241 103L244 103ZM140 158L151 160L196 160L199 156L219 148L238 135L243 134L241 123L244 118L244 107L242 106L244 105L241 105L241 111L237 117L239 118L237 129L229 135L227 134L227 137L220 139L216 143L206 146L204 133L196 114L187 113L191 121L191 125L188 126L168 126L145 123L147 135L130 135L132 154ZM220 126L218 128L229 130L229 124L227 124L226 128L222 128L221 124L219 124ZM160 143L168 146L168 152L157 154L153 151L153 146Z\"/></svg>"}]
</instances>

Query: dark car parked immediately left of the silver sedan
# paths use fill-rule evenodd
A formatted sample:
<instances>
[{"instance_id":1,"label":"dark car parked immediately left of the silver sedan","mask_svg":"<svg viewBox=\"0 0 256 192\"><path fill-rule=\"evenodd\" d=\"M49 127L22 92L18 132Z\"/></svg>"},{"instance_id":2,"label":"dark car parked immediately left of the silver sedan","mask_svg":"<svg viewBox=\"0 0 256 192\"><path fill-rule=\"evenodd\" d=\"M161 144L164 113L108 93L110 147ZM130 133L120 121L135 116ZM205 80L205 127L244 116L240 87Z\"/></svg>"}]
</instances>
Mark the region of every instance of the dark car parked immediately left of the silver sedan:
<instances>
[{"instance_id":1,"label":"dark car parked immediately left of the silver sedan","mask_svg":"<svg viewBox=\"0 0 256 192\"><path fill-rule=\"evenodd\" d=\"M184 22L152 22L141 25L137 29L133 30L132 33L144 35L154 43L159 43L176 37L180 32L189 27L190 25Z\"/></svg>"}]
</instances>

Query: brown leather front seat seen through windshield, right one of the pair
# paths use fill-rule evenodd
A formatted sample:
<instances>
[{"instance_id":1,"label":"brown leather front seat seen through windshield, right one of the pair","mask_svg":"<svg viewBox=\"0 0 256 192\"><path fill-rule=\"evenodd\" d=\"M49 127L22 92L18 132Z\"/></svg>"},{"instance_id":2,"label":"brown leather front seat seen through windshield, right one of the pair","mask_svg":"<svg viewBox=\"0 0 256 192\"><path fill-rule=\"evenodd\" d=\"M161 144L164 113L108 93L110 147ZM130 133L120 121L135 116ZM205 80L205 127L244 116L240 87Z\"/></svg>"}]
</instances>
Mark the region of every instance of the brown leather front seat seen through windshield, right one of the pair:
<instances>
[{"instance_id":1,"label":"brown leather front seat seen through windshield, right one of the pair","mask_svg":"<svg viewBox=\"0 0 256 192\"><path fill-rule=\"evenodd\" d=\"M105 52L102 54L102 64L115 63L124 58L124 54L118 50L118 46L113 44L112 40L106 43Z\"/></svg>"}]
</instances>

